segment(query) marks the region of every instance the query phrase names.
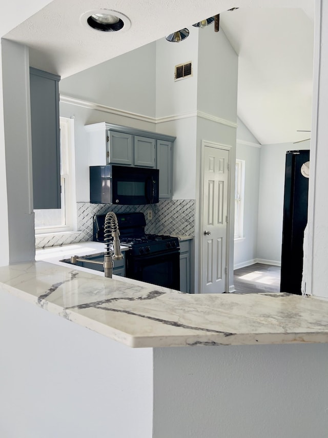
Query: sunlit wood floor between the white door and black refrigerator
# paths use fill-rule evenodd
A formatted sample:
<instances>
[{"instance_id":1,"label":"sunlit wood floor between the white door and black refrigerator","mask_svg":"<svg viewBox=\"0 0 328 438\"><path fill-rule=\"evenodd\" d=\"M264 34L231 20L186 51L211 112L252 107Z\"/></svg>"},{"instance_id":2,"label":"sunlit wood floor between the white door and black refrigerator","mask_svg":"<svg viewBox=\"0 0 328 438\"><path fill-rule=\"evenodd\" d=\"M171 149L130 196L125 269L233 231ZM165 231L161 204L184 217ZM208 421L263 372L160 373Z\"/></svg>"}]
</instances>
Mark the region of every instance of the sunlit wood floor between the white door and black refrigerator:
<instances>
[{"instance_id":1,"label":"sunlit wood floor between the white door and black refrigerator","mask_svg":"<svg viewBox=\"0 0 328 438\"><path fill-rule=\"evenodd\" d=\"M235 294L280 292L280 266L255 263L234 271Z\"/></svg>"}]
</instances>

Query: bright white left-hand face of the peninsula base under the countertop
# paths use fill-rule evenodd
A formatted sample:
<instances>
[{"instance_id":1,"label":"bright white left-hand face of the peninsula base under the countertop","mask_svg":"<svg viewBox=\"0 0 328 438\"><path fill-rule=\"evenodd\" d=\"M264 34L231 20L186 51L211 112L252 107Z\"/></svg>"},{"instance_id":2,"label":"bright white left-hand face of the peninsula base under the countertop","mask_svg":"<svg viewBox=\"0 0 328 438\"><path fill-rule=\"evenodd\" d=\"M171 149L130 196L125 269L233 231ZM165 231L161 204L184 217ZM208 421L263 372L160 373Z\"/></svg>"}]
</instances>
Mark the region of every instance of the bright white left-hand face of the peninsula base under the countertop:
<instances>
[{"instance_id":1,"label":"bright white left-hand face of the peninsula base under the countertop","mask_svg":"<svg viewBox=\"0 0 328 438\"><path fill-rule=\"evenodd\" d=\"M151 348L132 349L0 291L0 436L152 436Z\"/></svg>"}]
</instances>

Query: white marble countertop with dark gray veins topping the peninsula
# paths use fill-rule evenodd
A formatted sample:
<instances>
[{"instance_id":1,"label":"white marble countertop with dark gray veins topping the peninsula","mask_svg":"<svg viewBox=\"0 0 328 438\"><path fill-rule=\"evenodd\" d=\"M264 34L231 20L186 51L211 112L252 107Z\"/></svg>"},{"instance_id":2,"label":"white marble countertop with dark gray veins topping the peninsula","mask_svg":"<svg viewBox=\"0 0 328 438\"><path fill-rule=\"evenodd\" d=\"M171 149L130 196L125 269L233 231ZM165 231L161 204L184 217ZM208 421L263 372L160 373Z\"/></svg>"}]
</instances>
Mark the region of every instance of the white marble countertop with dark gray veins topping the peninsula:
<instances>
[{"instance_id":1,"label":"white marble countertop with dark gray veins topping the peninsula","mask_svg":"<svg viewBox=\"0 0 328 438\"><path fill-rule=\"evenodd\" d=\"M3 266L0 290L130 347L328 342L328 302L312 297L185 294L46 261Z\"/></svg>"}]
</instances>

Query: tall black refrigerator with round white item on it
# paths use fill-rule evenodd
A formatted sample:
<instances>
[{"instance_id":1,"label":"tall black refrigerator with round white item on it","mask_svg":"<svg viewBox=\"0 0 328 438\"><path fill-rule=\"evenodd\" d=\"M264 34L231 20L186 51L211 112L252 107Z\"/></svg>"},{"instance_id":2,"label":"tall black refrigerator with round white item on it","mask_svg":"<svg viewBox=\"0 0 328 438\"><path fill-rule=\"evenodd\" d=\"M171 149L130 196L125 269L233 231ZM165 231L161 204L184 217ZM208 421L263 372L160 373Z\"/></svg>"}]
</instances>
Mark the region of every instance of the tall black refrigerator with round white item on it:
<instances>
[{"instance_id":1,"label":"tall black refrigerator with round white item on it","mask_svg":"<svg viewBox=\"0 0 328 438\"><path fill-rule=\"evenodd\" d=\"M308 221L310 150L286 153L280 292L301 295L303 236Z\"/></svg>"}]
</instances>

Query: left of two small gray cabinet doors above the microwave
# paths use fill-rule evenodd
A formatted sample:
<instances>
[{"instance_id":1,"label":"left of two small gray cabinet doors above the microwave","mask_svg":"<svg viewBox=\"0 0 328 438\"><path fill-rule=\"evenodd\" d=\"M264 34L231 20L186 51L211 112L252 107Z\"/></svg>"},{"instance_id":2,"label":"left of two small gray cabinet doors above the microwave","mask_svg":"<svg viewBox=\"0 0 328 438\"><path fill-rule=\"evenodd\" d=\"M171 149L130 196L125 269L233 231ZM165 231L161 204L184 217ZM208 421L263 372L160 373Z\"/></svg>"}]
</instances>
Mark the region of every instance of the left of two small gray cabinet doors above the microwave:
<instances>
[{"instance_id":1,"label":"left of two small gray cabinet doors above the microwave","mask_svg":"<svg viewBox=\"0 0 328 438\"><path fill-rule=\"evenodd\" d=\"M132 164L132 135L125 132L109 132L108 164Z\"/></svg>"}]
</instances>

